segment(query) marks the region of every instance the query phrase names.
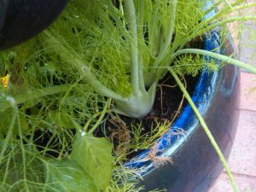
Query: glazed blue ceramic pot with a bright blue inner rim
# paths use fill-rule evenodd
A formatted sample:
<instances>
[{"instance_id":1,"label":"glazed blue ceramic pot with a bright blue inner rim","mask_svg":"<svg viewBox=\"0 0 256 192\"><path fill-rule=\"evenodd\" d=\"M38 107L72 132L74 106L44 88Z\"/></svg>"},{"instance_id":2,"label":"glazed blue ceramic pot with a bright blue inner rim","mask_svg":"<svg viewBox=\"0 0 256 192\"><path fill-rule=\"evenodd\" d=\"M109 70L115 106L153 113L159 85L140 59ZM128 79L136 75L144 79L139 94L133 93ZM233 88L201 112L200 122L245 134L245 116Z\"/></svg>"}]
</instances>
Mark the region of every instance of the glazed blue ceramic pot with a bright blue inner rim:
<instances>
[{"instance_id":1,"label":"glazed blue ceramic pot with a bright blue inner rim","mask_svg":"<svg viewBox=\"0 0 256 192\"><path fill-rule=\"evenodd\" d=\"M230 36L227 36L221 48L219 42L218 31L212 31L205 37L205 49L215 49L223 55L235 52ZM228 157L238 119L238 68L226 65L217 73L201 73L192 98L224 156ZM173 135L173 132L180 129L185 131L185 135ZM139 172L143 181L138 185L144 186L144 191L167 189L172 192L204 192L223 169L189 105L185 106L166 135L157 141L157 148L158 154L172 158L172 163L154 166L148 157L150 148L125 163L125 166L131 168L143 167Z\"/></svg>"}]
</instances>

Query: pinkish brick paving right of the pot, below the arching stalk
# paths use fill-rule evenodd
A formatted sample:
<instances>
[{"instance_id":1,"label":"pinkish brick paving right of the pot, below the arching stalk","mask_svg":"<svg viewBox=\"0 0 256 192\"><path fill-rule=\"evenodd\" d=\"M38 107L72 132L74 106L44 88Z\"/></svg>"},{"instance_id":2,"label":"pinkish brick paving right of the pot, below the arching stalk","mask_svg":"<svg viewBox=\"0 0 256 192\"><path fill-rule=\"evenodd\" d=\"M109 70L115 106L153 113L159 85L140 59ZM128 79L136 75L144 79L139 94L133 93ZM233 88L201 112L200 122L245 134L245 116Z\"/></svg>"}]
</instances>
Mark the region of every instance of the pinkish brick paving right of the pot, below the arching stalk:
<instances>
[{"instance_id":1,"label":"pinkish brick paving right of the pot, below the arching stalk","mask_svg":"<svg viewBox=\"0 0 256 192\"><path fill-rule=\"evenodd\" d=\"M254 91L252 89L255 89ZM241 103L229 166L240 192L256 192L256 75L241 72ZM209 192L232 192L222 172Z\"/></svg>"}]
</instances>

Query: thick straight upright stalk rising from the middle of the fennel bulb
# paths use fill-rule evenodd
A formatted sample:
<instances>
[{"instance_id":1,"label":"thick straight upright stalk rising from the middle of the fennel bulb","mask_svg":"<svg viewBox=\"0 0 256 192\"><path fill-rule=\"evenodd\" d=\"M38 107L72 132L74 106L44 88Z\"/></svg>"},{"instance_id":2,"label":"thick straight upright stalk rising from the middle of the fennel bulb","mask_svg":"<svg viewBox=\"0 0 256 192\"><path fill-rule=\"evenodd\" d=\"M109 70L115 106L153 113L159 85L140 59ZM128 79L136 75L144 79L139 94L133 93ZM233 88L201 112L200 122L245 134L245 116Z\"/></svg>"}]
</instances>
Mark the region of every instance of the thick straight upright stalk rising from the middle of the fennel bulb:
<instances>
[{"instance_id":1,"label":"thick straight upright stalk rising from the middle of the fennel bulb","mask_svg":"<svg viewBox=\"0 0 256 192\"><path fill-rule=\"evenodd\" d=\"M139 62L137 48L137 19L133 0L125 0L125 11L128 18L129 31L131 33L131 84L133 95L139 94Z\"/></svg>"}]
</instances>

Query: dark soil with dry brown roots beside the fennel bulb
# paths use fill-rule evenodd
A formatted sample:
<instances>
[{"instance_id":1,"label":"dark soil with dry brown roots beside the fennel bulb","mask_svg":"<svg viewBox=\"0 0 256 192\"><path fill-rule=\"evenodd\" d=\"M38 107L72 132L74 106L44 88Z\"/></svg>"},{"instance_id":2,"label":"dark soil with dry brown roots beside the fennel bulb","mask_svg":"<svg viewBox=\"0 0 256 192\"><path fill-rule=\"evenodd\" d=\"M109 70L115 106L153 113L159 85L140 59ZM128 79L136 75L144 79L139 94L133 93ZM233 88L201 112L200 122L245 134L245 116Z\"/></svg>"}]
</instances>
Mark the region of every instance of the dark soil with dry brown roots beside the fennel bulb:
<instances>
[{"instance_id":1,"label":"dark soil with dry brown roots beside the fennel bulb","mask_svg":"<svg viewBox=\"0 0 256 192\"><path fill-rule=\"evenodd\" d=\"M189 91L189 94L192 94L198 78L187 76L185 79L187 82L187 90ZM133 119L125 116L119 116L121 121L109 117L106 124L104 124L104 128L98 129L95 132L95 136L108 137L113 142L114 148L119 150L119 145L122 145L122 143L125 143L134 137L131 131L132 125L141 125L141 127L143 127L141 136L143 136L150 132L151 127L156 127L157 124L164 123L166 121L171 122L176 113L178 117L179 113L187 103L185 100L183 100L182 108L179 112L177 112L177 108L179 108L182 98L182 91L177 86L175 80L168 73L158 85L153 109L150 113L148 113L147 116L145 116L143 119ZM128 154L128 159L134 157L142 151L132 150L132 148L128 148L127 151L126 148L125 152Z\"/></svg>"}]
</instances>

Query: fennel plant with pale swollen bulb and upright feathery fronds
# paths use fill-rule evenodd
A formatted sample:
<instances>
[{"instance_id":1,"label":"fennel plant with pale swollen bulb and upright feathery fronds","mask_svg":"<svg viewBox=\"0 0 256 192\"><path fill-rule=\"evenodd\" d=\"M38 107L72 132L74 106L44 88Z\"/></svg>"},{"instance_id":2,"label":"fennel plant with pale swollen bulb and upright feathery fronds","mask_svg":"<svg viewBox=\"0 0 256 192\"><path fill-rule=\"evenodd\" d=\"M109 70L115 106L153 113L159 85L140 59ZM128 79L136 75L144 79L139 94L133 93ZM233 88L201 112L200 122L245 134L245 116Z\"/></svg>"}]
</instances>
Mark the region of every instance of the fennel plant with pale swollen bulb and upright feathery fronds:
<instances>
[{"instance_id":1,"label":"fennel plant with pale swollen bulb and upright feathery fronds","mask_svg":"<svg viewBox=\"0 0 256 192\"><path fill-rule=\"evenodd\" d=\"M236 9L244 7L239 3L241 1L233 3ZM77 67L97 92L113 98L117 113L133 118L148 114L154 103L157 82L166 74L163 68L170 63L176 67L179 55L209 55L255 72L253 67L228 56L185 49L192 38L201 37L217 26L234 20L255 19L250 16L222 20L233 11L233 5L207 20L202 20L207 13L203 11L204 3L198 1L124 0L116 7L106 0L101 3L85 1L76 6L83 12L69 13L65 20L59 20L59 28L49 30L45 35L63 61ZM192 16L183 14L192 10ZM64 22L78 33L78 48L74 49L74 42L61 32ZM84 39L82 44L81 35L90 38ZM199 67L193 65L194 71L201 69L203 56L196 62L201 64ZM188 72L189 67L185 67L183 73L186 70Z\"/></svg>"}]
</instances>

